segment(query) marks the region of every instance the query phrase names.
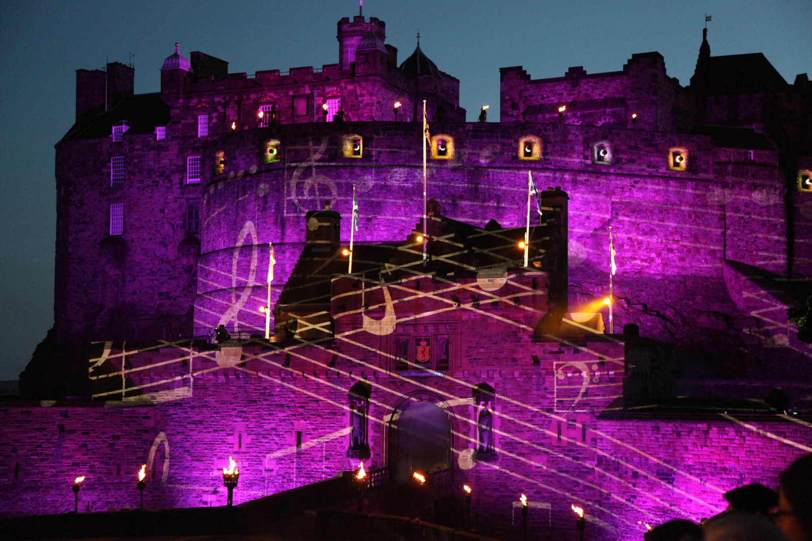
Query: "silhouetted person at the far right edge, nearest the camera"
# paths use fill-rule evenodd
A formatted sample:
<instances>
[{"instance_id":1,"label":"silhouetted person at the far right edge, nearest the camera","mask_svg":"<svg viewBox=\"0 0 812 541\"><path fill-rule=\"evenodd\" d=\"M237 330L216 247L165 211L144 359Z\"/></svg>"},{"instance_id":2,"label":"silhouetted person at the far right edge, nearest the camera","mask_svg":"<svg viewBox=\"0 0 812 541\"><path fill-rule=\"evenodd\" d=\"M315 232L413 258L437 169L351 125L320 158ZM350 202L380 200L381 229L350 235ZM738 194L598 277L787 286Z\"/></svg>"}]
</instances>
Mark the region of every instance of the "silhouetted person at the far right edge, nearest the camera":
<instances>
[{"instance_id":1,"label":"silhouetted person at the far right edge, nearest the camera","mask_svg":"<svg viewBox=\"0 0 812 541\"><path fill-rule=\"evenodd\" d=\"M781 474L775 524L792 541L812 541L812 454Z\"/></svg>"}]
</instances>

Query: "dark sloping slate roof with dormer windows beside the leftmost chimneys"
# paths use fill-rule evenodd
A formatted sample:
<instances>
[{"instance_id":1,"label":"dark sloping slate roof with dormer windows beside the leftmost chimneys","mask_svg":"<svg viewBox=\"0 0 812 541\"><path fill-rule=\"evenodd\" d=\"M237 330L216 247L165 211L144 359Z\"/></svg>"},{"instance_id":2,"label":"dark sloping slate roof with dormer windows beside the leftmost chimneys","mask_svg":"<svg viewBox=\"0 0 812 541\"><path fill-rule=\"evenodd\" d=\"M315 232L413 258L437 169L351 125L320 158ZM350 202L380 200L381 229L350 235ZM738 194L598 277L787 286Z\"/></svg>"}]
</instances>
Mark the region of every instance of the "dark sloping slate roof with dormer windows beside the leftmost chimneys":
<instances>
[{"instance_id":1,"label":"dark sloping slate roof with dormer windows beside the leftmost chimneys","mask_svg":"<svg viewBox=\"0 0 812 541\"><path fill-rule=\"evenodd\" d=\"M122 120L126 120L130 127L125 137L153 133L156 126L169 123L169 105L164 103L158 92L127 96L114 109L100 113L84 124L74 124L62 140L107 137L113 132L113 125Z\"/></svg>"}]
</instances>

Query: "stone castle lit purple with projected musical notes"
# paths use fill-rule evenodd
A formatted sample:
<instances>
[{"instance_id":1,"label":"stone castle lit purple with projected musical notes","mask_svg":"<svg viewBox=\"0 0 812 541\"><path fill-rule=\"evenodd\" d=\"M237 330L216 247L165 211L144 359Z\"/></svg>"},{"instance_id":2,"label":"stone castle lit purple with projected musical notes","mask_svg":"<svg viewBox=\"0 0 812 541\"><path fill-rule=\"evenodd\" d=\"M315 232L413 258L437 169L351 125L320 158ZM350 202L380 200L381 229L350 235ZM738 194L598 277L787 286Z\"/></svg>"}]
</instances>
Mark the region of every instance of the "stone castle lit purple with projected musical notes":
<instances>
[{"instance_id":1,"label":"stone castle lit purple with projected musical notes","mask_svg":"<svg viewBox=\"0 0 812 541\"><path fill-rule=\"evenodd\" d=\"M2 406L7 514L63 510L35 485L77 468L116 505L147 462L152 505L179 506L222 502L229 455L244 499L366 460L454 468L494 535L518 535L525 492L542 535L572 503L628 539L810 450L808 424L749 400L809 406L786 316L812 274L806 75L713 57L705 31L687 87L654 52L506 67L501 122L469 123L459 81L419 44L399 64L385 29L341 19L338 63L253 76L176 45L150 94L132 67L77 71L54 329L20 379L40 402Z\"/></svg>"}]
</instances>

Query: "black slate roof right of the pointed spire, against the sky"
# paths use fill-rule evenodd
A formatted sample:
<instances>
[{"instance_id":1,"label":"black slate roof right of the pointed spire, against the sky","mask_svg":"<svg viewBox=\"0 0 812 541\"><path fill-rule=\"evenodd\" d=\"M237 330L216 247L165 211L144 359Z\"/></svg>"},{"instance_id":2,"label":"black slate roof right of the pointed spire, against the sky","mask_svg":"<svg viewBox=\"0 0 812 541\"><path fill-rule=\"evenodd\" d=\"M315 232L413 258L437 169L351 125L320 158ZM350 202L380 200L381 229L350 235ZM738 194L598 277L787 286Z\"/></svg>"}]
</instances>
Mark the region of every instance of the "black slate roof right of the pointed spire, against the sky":
<instances>
[{"instance_id":1,"label":"black slate roof right of the pointed spire, against the sky","mask_svg":"<svg viewBox=\"0 0 812 541\"><path fill-rule=\"evenodd\" d=\"M761 53L728 54L708 58L709 94L763 92L787 86L784 77Z\"/></svg>"}]
</instances>

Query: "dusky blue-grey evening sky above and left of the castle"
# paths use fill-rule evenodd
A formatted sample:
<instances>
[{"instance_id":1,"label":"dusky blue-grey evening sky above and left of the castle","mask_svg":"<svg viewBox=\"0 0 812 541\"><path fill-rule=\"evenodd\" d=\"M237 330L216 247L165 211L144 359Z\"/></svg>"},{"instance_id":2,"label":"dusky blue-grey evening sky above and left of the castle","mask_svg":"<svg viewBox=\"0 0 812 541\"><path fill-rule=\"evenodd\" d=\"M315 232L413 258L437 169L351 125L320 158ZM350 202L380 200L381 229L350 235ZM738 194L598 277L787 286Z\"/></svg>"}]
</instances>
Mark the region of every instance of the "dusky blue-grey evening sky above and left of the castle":
<instances>
[{"instance_id":1,"label":"dusky blue-grey evening sky above and left of the castle","mask_svg":"<svg viewBox=\"0 0 812 541\"><path fill-rule=\"evenodd\" d=\"M17 378L53 323L54 144L71 127L79 68L136 66L136 93L159 89L175 41L231 62L230 71L321 66L338 61L336 22L353 0L263 2L37 2L5 0L0 16L0 380ZM633 53L659 51L688 84L702 41L711 54L762 52L789 83L812 73L812 2L417 2L367 0L364 15L387 23L400 61L421 48L460 79L474 120L499 118L499 67L533 79L618 71ZM102 217L100 216L100 219Z\"/></svg>"}]
</instances>

